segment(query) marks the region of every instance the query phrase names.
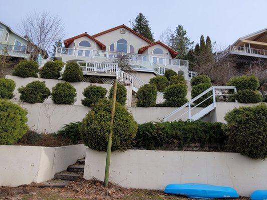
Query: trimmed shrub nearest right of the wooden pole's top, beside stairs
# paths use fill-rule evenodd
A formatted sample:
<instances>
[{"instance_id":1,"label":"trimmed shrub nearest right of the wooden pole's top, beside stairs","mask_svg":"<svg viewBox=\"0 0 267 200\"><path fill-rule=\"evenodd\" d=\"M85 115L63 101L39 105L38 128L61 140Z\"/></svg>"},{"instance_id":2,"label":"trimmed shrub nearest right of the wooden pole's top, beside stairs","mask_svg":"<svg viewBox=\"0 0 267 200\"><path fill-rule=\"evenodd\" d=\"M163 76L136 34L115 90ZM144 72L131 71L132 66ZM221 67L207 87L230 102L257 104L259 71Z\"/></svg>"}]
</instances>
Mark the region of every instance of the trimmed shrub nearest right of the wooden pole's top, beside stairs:
<instances>
[{"instance_id":1,"label":"trimmed shrub nearest right of the wooden pole's top, beside stairs","mask_svg":"<svg viewBox=\"0 0 267 200\"><path fill-rule=\"evenodd\" d=\"M157 87L154 84L144 84L137 91L138 107L152 107L156 105Z\"/></svg>"}]
</instances>

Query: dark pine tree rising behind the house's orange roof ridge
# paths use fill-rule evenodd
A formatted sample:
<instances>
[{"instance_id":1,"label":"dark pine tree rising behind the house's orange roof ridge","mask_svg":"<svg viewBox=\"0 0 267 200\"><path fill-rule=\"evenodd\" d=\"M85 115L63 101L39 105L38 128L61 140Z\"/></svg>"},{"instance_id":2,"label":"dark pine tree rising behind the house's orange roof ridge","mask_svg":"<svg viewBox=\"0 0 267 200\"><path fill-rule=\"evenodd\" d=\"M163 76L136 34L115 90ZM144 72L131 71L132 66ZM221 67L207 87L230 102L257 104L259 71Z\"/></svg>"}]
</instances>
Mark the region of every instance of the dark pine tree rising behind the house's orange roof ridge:
<instances>
[{"instance_id":1,"label":"dark pine tree rising behind the house's orange roof ridge","mask_svg":"<svg viewBox=\"0 0 267 200\"><path fill-rule=\"evenodd\" d=\"M136 18L135 23L133 23L133 30L143 35L147 39L151 41L155 41L154 33L151 32L151 27L149 26L149 22L146 17L140 12Z\"/></svg>"}]
</instances>

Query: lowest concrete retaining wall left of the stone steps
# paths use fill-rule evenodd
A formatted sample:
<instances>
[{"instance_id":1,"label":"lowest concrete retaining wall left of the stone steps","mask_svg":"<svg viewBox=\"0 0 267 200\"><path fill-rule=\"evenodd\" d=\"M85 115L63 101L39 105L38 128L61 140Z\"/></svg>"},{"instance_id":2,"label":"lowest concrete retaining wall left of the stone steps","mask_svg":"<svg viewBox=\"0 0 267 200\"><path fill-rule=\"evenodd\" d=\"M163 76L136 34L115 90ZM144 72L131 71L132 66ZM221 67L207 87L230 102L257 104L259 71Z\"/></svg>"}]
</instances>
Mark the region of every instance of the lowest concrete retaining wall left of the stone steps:
<instances>
[{"instance_id":1,"label":"lowest concrete retaining wall left of the stone steps","mask_svg":"<svg viewBox=\"0 0 267 200\"><path fill-rule=\"evenodd\" d=\"M0 145L0 186L43 182L85 156L84 144L61 147Z\"/></svg>"}]
</instances>

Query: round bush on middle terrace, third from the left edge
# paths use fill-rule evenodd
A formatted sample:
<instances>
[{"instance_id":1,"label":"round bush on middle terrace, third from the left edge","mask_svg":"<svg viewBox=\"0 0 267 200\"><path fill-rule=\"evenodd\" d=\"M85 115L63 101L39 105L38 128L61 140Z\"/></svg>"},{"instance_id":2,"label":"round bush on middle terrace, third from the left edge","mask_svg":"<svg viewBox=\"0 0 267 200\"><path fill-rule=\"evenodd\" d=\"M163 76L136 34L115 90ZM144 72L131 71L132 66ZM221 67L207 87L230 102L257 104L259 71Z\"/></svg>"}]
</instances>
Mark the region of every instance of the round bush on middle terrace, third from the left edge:
<instances>
[{"instance_id":1,"label":"round bush on middle terrace, third from the left edge","mask_svg":"<svg viewBox=\"0 0 267 200\"><path fill-rule=\"evenodd\" d=\"M77 95L76 89L69 82L59 82L52 87L52 100L56 104L73 104Z\"/></svg>"}]
</instances>

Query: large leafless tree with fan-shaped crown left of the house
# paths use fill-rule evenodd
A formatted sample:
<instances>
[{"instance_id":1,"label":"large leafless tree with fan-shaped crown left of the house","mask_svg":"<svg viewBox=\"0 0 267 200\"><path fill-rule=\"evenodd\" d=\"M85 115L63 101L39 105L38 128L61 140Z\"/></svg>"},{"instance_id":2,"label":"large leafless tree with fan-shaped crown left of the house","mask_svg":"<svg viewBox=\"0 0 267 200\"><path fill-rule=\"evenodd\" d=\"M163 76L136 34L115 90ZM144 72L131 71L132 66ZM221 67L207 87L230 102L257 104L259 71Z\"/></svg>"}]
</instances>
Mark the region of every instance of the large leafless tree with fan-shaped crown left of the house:
<instances>
[{"instance_id":1,"label":"large leafless tree with fan-shaped crown left of the house","mask_svg":"<svg viewBox=\"0 0 267 200\"><path fill-rule=\"evenodd\" d=\"M55 41L66 35L62 19L48 11L30 12L22 19L19 29L34 44L32 58L40 52L48 52Z\"/></svg>"}]
</instances>

